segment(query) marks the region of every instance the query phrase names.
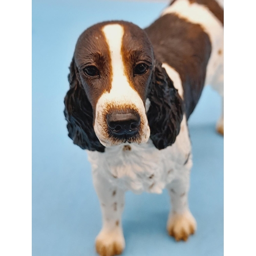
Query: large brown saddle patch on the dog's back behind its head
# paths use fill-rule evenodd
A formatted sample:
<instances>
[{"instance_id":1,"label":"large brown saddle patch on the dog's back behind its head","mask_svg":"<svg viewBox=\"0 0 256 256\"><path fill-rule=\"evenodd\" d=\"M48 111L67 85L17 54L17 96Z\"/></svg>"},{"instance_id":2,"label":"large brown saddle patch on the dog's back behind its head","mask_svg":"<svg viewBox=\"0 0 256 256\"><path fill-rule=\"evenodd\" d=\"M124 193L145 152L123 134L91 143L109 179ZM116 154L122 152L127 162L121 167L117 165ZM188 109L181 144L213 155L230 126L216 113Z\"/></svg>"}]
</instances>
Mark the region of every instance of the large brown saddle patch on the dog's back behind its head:
<instances>
[{"instance_id":1,"label":"large brown saddle patch on the dog's back behind its head","mask_svg":"<svg viewBox=\"0 0 256 256\"><path fill-rule=\"evenodd\" d=\"M156 59L167 63L180 75L188 119L204 88L211 53L210 38L199 24L190 23L175 13L161 16L145 31Z\"/></svg>"}]
</instances>

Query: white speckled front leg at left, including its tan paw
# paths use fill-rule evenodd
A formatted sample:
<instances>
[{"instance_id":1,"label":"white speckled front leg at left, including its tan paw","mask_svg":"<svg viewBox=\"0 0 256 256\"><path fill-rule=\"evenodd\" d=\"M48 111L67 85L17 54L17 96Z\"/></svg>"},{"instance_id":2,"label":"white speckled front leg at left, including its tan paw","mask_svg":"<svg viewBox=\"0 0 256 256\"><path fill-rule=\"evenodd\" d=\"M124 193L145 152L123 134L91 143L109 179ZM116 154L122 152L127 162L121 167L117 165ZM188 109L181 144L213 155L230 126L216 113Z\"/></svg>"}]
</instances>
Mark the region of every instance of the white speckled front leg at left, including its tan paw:
<instances>
[{"instance_id":1,"label":"white speckled front leg at left, including its tan paw","mask_svg":"<svg viewBox=\"0 0 256 256\"><path fill-rule=\"evenodd\" d=\"M125 247L121 223L124 191L100 176L94 177L94 186L102 212L102 229L96 238L96 251L101 256L121 254Z\"/></svg>"}]
</instances>

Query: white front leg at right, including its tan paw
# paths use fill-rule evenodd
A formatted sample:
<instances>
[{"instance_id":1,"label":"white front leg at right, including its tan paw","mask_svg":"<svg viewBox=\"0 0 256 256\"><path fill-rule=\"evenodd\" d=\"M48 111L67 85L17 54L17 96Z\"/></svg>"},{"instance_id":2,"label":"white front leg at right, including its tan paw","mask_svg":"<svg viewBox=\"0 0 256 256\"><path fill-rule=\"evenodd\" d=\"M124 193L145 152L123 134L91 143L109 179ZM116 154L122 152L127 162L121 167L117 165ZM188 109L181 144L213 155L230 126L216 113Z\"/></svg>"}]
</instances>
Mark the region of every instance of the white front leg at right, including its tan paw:
<instances>
[{"instance_id":1,"label":"white front leg at right, including its tan paw","mask_svg":"<svg viewBox=\"0 0 256 256\"><path fill-rule=\"evenodd\" d=\"M181 170L182 172L182 170ZM172 203L167 231L176 241L186 241L190 234L194 234L197 223L188 208L187 196L189 190L189 170L182 172L183 177L174 180L167 187Z\"/></svg>"}]
</instances>

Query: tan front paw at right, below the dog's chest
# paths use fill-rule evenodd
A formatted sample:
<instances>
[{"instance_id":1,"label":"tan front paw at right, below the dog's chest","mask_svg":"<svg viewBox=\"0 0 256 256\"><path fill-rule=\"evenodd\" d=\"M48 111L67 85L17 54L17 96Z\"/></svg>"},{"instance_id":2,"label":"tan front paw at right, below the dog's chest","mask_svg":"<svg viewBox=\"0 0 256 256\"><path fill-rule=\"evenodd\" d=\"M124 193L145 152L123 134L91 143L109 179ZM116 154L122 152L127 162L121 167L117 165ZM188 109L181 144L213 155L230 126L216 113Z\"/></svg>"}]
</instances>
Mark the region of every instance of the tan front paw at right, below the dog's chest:
<instances>
[{"instance_id":1,"label":"tan front paw at right, below the dog's chest","mask_svg":"<svg viewBox=\"0 0 256 256\"><path fill-rule=\"evenodd\" d=\"M167 222L167 231L176 241L187 241L190 234L194 234L197 223L189 210L183 214L173 212Z\"/></svg>"}]
</instances>

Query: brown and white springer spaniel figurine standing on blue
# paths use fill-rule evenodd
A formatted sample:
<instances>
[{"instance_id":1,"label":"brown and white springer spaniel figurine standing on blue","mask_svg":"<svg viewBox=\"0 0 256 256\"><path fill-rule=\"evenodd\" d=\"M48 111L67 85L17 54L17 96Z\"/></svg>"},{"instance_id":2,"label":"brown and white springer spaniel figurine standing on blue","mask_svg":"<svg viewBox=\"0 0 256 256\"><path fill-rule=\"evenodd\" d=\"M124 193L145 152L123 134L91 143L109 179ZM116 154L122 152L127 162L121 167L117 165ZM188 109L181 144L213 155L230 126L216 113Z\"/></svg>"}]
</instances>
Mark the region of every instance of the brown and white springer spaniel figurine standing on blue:
<instances>
[{"instance_id":1,"label":"brown and white springer spaniel figurine standing on blue","mask_svg":"<svg viewBox=\"0 0 256 256\"><path fill-rule=\"evenodd\" d=\"M87 150L103 227L100 255L120 254L124 193L160 194L177 241L196 230L187 196L192 166L187 119L204 84L223 96L223 7L215 0L174 0L142 30L112 21L84 31L65 97L69 137ZM217 124L223 134L223 115Z\"/></svg>"}]
</instances>

